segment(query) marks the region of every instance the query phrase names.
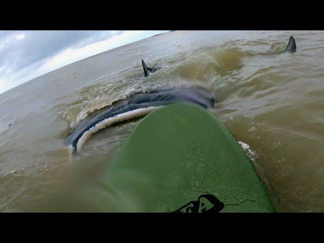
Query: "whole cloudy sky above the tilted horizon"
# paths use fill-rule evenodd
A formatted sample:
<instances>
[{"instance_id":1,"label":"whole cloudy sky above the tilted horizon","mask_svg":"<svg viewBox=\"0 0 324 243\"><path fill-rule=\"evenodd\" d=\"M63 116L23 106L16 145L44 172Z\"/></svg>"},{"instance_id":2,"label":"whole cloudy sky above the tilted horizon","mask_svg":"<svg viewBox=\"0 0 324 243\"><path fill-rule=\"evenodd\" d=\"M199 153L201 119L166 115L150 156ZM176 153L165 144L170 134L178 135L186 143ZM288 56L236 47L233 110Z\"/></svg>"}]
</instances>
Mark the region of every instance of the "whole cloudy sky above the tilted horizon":
<instances>
[{"instance_id":1,"label":"whole cloudy sky above the tilted horizon","mask_svg":"<svg viewBox=\"0 0 324 243\"><path fill-rule=\"evenodd\" d=\"M0 30L0 94L72 62L164 32Z\"/></svg>"}]
</instances>

